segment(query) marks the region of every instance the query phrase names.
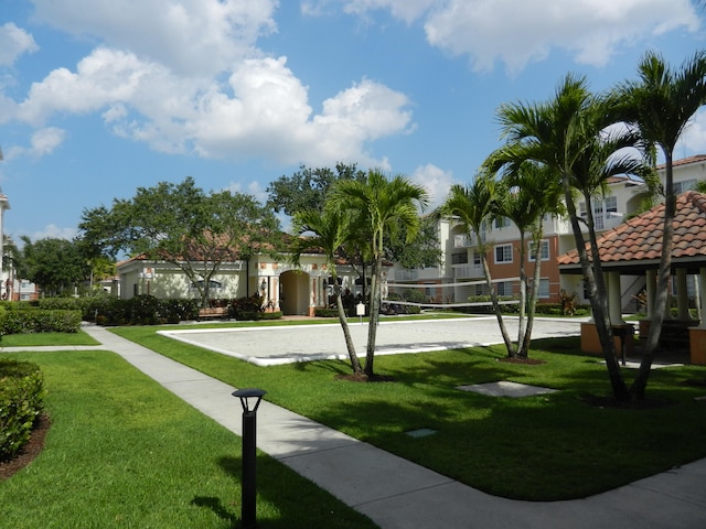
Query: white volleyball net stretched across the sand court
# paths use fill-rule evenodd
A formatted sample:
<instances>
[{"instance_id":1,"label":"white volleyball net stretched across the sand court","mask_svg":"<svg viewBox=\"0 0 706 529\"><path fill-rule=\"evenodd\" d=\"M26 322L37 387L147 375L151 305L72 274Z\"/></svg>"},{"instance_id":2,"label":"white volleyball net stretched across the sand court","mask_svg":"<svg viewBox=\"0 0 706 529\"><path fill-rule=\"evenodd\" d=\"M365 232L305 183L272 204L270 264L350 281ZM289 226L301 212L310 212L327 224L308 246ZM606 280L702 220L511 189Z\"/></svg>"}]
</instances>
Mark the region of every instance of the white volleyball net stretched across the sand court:
<instances>
[{"instance_id":1,"label":"white volleyball net stretched across the sand court","mask_svg":"<svg viewBox=\"0 0 706 529\"><path fill-rule=\"evenodd\" d=\"M491 281L500 304L520 302L520 278ZM383 303L419 306L420 309L464 309L492 305L485 280L452 283L383 283Z\"/></svg>"}]
</instances>

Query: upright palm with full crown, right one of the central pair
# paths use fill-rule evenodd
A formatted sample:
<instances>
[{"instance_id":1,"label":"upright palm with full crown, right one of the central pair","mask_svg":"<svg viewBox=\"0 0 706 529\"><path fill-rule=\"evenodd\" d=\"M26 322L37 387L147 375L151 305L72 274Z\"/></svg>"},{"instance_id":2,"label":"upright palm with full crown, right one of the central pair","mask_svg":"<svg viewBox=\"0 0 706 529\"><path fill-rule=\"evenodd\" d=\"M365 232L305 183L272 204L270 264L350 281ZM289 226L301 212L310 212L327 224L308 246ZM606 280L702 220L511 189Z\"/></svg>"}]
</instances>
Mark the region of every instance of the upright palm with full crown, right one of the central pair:
<instances>
[{"instance_id":1,"label":"upright palm with full crown, right one of the central pair","mask_svg":"<svg viewBox=\"0 0 706 529\"><path fill-rule=\"evenodd\" d=\"M384 238L386 231L394 237L402 225L407 228L407 240L414 239L419 229L418 207L424 209L428 194L420 185L411 183L403 175L386 177L381 171L371 170L364 181L342 180L331 192L331 204L340 213L357 216L370 233L370 249L373 258L373 273L370 296L370 325L364 373L368 379L374 376L375 339L379 321L382 294Z\"/></svg>"}]
</instances>

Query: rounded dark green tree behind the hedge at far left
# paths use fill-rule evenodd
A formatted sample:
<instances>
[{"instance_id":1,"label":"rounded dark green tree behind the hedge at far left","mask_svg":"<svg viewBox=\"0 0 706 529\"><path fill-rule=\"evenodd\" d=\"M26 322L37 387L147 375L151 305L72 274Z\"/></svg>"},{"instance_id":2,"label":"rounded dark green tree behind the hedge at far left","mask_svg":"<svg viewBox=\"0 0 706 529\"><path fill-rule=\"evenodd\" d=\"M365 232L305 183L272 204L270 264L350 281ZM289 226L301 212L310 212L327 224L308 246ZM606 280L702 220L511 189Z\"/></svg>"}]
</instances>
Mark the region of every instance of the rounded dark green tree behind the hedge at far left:
<instances>
[{"instance_id":1,"label":"rounded dark green tree behind the hedge at far left","mask_svg":"<svg viewBox=\"0 0 706 529\"><path fill-rule=\"evenodd\" d=\"M90 267L78 245L58 238L35 242L21 236L24 244L18 274L38 284L45 295L73 294L73 289L90 274Z\"/></svg>"}]
</instances>

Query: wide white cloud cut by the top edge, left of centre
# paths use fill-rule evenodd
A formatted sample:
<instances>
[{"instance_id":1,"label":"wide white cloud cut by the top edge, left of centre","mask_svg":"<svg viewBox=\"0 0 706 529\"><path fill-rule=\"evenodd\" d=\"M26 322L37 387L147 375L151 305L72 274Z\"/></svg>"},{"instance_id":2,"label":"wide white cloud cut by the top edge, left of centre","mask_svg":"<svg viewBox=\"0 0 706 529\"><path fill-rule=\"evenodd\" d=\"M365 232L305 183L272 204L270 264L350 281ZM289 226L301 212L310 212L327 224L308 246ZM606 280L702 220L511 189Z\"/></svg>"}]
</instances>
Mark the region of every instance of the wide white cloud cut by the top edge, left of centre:
<instances>
[{"instance_id":1,"label":"wide white cloud cut by the top edge, left of centre","mask_svg":"<svg viewBox=\"0 0 706 529\"><path fill-rule=\"evenodd\" d=\"M35 17L75 35L158 62L182 75L214 75L276 31L276 0L34 0Z\"/></svg>"}]
</instances>

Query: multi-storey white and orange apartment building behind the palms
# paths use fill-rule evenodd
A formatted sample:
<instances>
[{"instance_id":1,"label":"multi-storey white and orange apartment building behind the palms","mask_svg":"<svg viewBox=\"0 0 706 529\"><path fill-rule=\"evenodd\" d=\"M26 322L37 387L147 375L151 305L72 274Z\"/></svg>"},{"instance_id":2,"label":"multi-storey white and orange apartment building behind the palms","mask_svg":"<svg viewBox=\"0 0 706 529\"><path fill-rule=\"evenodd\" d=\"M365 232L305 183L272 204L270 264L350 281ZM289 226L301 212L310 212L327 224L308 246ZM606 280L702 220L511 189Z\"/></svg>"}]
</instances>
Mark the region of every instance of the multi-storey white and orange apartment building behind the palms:
<instances>
[{"instance_id":1,"label":"multi-storey white and orange apartment building behind the palms","mask_svg":"<svg viewBox=\"0 0 706 529\"><path fill-rule=\"evenodd\" d=\"M676 193L694 188L696 183L706 180L706 154L685 158L674 162L674 185ZM664 181L664 165L657 173ZM629 176L613 177L609 181L609 193L592 204L597 235L622 224L627 217L640 210L648 196L646 185ZM586 204L577 204L581 216L587 215ZM399 292L405 284L426 284L427 298L440 304L463 304L469 299L486 292L481 258L477 250L475 234L469 234L457 220L443 218L438 223L439 244L443 253L442 264L419 270L405 270L398 266L388 271L391 292ZM516 295L520 276L520 231L507 219L498 219L481 234L488 248L488 263L496 291L500 295ZM530 237L527 236L527 239ZM527 245L526 271L534 273L535 263L530 259ZM541 283L539 301L557 302L561 289L576 293L580 303L588 303L580 276L561 276L557 258L576 247L574 233L568 218L547 216L544 219L544 237L539 251ZM446 284L446 288L439 285ZM693 281L689 283L693 284ZM623 309L634 309L634 295L645 287L644 277L621 277L621 303Z\"/></svg>"}]
</instances>

